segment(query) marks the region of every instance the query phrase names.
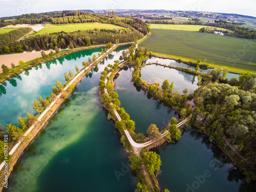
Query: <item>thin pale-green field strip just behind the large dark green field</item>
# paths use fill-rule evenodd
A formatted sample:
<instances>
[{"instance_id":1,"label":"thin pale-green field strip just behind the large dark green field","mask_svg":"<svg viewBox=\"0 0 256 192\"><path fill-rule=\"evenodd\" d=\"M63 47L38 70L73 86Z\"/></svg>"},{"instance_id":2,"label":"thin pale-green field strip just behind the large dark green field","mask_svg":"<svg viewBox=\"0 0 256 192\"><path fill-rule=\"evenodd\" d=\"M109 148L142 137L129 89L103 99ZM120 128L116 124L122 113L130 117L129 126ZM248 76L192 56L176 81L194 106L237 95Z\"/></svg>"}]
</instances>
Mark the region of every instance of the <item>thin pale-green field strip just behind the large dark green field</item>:
<instances>
[{"instance_id":1,"label":"thin pale-green field strip just behind the large dark green field","mask_svg":"<svg viewBox=\"0 0 256 192\"><path fill-rule=\"evenodd\" d=\"M168 29L179 31L199 31L199 29L206 27L201 25L166 25L166 24L150 24L151 29ZM211 27L214 28L214 27ZM227 29L218 28L217 30L228 31Z\"/></svg>"}]
</instances>

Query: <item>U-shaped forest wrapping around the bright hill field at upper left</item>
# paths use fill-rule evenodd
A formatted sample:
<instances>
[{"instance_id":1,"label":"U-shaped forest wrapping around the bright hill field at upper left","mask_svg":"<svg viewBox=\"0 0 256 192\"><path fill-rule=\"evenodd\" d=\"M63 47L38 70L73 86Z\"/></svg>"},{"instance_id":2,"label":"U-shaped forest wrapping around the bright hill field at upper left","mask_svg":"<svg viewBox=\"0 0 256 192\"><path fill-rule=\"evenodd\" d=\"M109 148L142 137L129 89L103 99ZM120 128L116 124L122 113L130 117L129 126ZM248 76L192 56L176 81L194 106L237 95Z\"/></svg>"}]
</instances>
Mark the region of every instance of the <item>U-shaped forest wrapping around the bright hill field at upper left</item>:
<instances>
[{"instance_id":1,"label":"U-shaped forest wrapping around the bright hill field at upper left","mask_svg":"<svg viewBox=\"0 0 256 192\"><path fill-rule=\"evenodd\" d=\"M50 18L51 22L61 23L61 20L67 20L68 23L81 23L81 22L98 22L106 24L114 24L124 27L125 29L94 29L88 31L75 31L71 33L59 32L59 33L46 33L43 35L34 35L27 37L19 42L14 40L8 40L8 35L3 39L4 44L0 48L0 54L17 52L18 46L19 52L32 51L33 49L48 50L60 47L66 49L68 46L73 49L78 46L90 46L97 44L106 44L108 42L131 42L142 38L150 31L150 28L142 22L142 20L135 18L122 18L115 16L114 12L108 16L97 15L86 12L72 11L63 13L61 15L55 15Z\"/></svg>"}]
</instances>

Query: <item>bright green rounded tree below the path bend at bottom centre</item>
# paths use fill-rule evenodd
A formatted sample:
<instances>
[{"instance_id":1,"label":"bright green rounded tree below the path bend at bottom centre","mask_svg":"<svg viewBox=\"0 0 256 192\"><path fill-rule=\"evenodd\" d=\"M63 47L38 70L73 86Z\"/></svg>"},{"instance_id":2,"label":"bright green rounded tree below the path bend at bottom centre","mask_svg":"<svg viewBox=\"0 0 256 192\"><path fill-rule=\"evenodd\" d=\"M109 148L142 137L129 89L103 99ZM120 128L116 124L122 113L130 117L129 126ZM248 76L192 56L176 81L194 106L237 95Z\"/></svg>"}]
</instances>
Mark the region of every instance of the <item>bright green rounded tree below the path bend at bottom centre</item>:
<instances>
[{"instance_id":1,"label":"bright green rounded tree below the path bend at bottom centre","mask_svg":"<svg viewBox=\"0 0 256 192\"><path fill-rule=\"evenodd\" d=\"M151 174L154 174L155 170L160 169L160 166L161 166L160 156L155 152L147 152L142 161L145 163L146 169Z\"/></svg>"}]
</instances>

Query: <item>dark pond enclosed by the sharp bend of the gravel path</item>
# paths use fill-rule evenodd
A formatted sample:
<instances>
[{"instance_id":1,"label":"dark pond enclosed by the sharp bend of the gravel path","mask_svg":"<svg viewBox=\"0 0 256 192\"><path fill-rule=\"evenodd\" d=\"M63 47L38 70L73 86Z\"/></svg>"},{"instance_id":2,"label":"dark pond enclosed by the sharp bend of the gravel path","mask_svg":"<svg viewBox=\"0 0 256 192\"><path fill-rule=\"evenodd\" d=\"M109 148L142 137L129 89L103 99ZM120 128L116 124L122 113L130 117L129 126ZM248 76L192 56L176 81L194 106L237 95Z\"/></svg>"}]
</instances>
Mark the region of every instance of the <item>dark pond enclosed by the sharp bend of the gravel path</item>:
<instances>
[{"instance_id":1,"label":"dark pond enclosed by the sharp bend of the gravel path","mask_svg":"<svg viewBox=\"0 0 256 192\"><path fill-rule=\"evenodd\" d=\"M136 133L147 135L146 130L152 123L162 130L172 117L178 118L178 114L174 110L169 109L165 104L135 86L131 81L133 68L125 70L119 72L119 76L115 80L114 91L118 93L121 107L135 121Z\"/></svg>"}]
</instances>

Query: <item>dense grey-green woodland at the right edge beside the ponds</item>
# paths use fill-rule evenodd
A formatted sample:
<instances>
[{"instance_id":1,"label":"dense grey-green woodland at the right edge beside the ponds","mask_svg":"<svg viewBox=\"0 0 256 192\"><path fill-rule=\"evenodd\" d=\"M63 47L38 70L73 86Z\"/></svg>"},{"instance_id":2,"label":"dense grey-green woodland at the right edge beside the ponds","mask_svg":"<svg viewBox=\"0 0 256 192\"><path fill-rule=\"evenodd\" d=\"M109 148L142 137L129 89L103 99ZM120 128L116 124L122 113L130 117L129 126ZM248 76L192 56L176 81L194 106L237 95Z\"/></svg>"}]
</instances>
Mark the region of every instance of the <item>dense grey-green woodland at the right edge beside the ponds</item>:
<instances>
[{"instance_id":1,"label":"dense grey-green woodland at the right edge beside the ponds","mask_svg":"<svg viewBox=\"0 0 256 192\"><path fill-rule=\"evenodd\" d=\"M244 175L248 180L255 180L256 75L247 73L228 81L225 79L227 73L226 69L214 69L209 75L202 75L216 82L209 84L196 98L193 124L207 133L209 140L216 142L227 155L234 157L239 152L244 156L246 160L239 158L236 163L246 169ZM223 135L235 151L227 146Z\"/></svg>"}]
</instances>

